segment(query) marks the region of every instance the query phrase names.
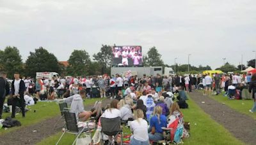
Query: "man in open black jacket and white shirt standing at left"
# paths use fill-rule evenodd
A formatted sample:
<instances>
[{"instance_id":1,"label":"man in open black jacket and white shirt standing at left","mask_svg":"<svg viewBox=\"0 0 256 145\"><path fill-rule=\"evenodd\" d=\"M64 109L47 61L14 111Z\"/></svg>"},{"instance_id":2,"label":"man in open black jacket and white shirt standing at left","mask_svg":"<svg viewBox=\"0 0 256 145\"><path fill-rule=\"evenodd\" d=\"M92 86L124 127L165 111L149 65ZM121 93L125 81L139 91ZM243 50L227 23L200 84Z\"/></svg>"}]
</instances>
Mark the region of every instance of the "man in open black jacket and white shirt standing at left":
<instances>
[{"instance_id":1,"label":"man in open black jacket and white shirt standing at left","mask_svg":"<svg viewBox=\"0 0 256 145\"><path fill-rule=\"evenodd\" d=\"M19 102L20 109L22 111L22 117L25 117L25 100L24 100L24 92L26 91L25 83L22 79L20 79L20 74L15 72L14 74L15 80L12 81L12 118L15 118L15 109L17 106L17 102Z\"/></svg>"}]
</instances>

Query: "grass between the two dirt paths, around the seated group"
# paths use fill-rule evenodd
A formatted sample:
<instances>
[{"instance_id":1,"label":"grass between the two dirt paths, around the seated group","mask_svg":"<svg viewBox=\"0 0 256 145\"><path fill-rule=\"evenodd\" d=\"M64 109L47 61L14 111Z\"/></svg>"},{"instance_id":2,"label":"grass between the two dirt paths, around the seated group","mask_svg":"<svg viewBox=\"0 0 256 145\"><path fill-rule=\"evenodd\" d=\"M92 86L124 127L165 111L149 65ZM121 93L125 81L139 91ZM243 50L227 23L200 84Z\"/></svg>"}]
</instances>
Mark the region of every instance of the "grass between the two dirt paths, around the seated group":
<instances>
[{"instance_id":1,"label":"grass between the two dirt paths, around the seated group","mask_svg":"<svg viewBox=\"0 0 256 145\"><path fill-rule=\"evenodd\" d=\"M212 120L204 113L193 100L188 100L189 109L182 109L184 120L191 123L191 137L184 139L184 144L244 144L233 137L224 127ZM129 128L124 128L125 133L129 133ZM61 132L52 135L39 142L39 145L55 144ZM75 135L66 134L60 144L72 144Z\"/></svg>"}]
</instances>

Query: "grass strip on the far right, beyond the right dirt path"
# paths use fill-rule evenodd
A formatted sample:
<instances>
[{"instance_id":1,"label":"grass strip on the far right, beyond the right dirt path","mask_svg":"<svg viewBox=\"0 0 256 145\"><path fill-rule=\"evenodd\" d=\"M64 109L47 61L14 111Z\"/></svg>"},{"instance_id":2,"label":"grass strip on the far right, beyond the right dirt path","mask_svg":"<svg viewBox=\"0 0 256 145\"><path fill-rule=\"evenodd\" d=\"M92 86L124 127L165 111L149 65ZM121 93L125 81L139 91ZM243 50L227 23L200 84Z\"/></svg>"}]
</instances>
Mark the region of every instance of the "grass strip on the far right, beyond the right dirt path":
<instances>
[{"instance_id":1,"label":"grass strip on the far right, beyond the right dirt path","mask_svg":"<svg viewBox=\"0 0 256 145\"><path fill-rule=\"evenodd\" d=\"M222 94L220 95L212 95L212 99L217 100L221 104L225 104L228 107L243 113L247 114L249 116L252 116L253 119L256 120L256 113L250 113L249 109L252 109L253 106L253 100L230 100L228 97L224 97Z\"/></svg>"}]
</instances>

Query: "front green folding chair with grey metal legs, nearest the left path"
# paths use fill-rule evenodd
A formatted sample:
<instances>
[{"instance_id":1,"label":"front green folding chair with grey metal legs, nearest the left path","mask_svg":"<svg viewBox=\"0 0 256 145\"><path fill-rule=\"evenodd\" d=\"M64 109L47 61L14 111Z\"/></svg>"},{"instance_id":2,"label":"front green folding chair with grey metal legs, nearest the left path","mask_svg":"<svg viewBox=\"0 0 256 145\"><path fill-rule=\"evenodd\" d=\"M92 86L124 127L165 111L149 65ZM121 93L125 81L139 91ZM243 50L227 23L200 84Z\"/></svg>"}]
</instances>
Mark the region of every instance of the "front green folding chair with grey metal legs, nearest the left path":
<instances>
[{"instance_id":1,"label":"front green folding chair with grey metal legs, nearest the left path","mask_svg":"<svg viewBox=\"0 0 256 145\"><path fill-rule=\"evenodd\" d=\"M90 130L88 123L90 121L86 122L86 126L85 127L78 127L77 126L77 120L76 120L76 114L75 113L70 113L68 111L63 111L64 114L64 118L65 118L65 122L66 122L66 127L67 129L64 130L63 134L61 135L60 139L58 140L58 142L56 143L59 144L61 138L63 137L63 135L67 132L69 134L74 134L77 135L76 139L74 140L73 144L75 144L75 142L77 141L79 135L81 135L83 132L87 132L88 130ZM90 137L91 137L91 133L89 132Z\"/></svg>"}]
</instances>

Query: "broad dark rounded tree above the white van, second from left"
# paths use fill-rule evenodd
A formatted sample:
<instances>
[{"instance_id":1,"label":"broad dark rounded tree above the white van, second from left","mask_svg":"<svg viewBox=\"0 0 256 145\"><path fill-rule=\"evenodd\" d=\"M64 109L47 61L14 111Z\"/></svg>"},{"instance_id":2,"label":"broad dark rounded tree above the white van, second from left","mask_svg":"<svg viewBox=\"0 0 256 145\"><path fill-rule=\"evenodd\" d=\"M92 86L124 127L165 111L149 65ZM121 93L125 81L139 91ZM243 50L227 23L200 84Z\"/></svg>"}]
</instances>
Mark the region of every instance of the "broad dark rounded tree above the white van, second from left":
<instances>
[{"instance_id":1,"label":"broad dark rounded tree above the white van, second from left","mask_svg":"<svg viewBox=\"0 0 256 145\"><path fill-rule=\"evenodd\" d=\"M27 76L36 76L36 72L58 72L61 68L58 59L54 54L49 53L45 48L39 47L35 52L29 52L29 57L26 60L26 74Z\"/></svg>"}]
</instances>

